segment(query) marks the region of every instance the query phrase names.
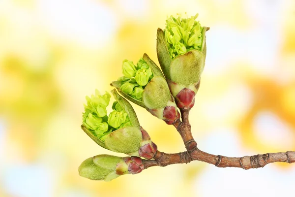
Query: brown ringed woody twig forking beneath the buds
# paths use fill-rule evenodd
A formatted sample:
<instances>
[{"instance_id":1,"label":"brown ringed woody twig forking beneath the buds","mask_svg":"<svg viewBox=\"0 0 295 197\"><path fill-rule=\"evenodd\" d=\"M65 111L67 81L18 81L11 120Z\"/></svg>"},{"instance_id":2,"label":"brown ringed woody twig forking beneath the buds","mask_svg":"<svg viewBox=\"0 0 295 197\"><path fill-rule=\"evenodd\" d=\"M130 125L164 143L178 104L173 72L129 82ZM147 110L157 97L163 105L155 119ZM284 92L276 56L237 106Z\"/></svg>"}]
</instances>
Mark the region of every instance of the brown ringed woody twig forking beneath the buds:
<instances>
[{"instance_id":1,"label":"brown ringed woody twig forking beneath the buds","mask_svg":"<svg viewBox=\"0 0 295 197\"><path fill-rule=\"evenodd\" d=\"M171 164L186 164L191 161L201 161L213 164L217 167L240 167L242 169L264 167L266 164L275 162L295 163L295 152L285 153L266 153L263 155L253 155L244 157L226 157L212 155L198 149L197 142L194 140L189 124L189 109L180 109L182 121L177 121L174 126L177 128L186 152L167 154L157 151L154 160L143 160L145 168L151 166L166 166Z\"/></svg>"}]
</instances>

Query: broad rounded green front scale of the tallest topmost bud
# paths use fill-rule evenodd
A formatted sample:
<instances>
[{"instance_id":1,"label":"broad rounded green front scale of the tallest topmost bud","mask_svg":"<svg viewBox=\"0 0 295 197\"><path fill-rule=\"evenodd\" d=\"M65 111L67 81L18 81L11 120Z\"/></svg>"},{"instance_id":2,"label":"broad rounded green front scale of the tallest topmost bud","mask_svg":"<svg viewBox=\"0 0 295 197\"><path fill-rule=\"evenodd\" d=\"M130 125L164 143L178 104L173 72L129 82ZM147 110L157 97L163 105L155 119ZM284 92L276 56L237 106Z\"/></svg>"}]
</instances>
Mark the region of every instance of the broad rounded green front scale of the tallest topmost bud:
<instances>
[{"instance_id":1,"label":"broad rounded green front scale of the tallest topmost bud","mask_svg":"<svg viewBox=\"0 0 295 197\"><path fill-rule=\"evenodd\" d=\"M197 83L205 66L205 56L198 50L189 51L177 56L170 67L170 79L176 83L188 86Z\"/></svg>"}]
</instances>

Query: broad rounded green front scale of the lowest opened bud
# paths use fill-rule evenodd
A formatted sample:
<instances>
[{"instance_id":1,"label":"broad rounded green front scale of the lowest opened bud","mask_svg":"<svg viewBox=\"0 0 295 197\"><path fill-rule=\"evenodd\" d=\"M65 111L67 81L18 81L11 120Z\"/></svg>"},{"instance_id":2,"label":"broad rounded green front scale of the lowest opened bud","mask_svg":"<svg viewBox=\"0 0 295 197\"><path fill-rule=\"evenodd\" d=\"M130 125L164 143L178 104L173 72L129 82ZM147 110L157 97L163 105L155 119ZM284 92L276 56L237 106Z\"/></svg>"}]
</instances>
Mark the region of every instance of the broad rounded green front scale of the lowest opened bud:
<instances>
[{"instance_id":1,"label":"broad rounded green front scale of the lowest opened bud","mask_svg":"<svg viewBox=\"0 0 295 197\"><path fill-rule=\"evenodd\" d=\"M130 155L138 152L142 133L137 127L125 127L111 132L105 137L105 145L111 151Z\"/></svg>"}]
</instances>

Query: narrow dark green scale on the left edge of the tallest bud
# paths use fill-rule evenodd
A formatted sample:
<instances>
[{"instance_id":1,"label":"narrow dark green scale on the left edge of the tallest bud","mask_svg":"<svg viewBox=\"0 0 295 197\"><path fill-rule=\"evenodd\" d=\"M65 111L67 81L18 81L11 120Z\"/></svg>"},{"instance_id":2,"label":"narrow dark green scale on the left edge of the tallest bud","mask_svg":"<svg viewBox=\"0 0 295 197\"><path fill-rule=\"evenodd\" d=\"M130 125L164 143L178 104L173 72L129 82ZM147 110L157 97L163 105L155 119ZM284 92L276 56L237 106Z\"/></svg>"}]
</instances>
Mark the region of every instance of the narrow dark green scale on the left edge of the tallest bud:
<instances>
[{"instance_id":1,"label":"narrow dark green scale on the left edge of the tallest bud","mask_svg":"<svg viewBox=\"0 0 295 197\"><path fill-rule=\"evenodd\" d=\"M168 51L165 34L160 28L158 28L157 32L157 56L165 77L170 79L170 65L172 59Z\"/></svg>"}]
</instances>

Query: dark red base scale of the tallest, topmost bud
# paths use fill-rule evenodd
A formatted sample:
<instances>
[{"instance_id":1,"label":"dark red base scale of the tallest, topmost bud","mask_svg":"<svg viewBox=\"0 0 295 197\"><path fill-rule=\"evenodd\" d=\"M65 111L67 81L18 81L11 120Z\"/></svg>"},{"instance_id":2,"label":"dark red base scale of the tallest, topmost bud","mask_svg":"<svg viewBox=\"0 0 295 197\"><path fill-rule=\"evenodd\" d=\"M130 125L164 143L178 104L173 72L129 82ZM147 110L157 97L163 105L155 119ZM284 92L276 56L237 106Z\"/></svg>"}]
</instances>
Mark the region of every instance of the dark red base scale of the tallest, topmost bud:
<instances>
[{"instance_id":1,"label":"dark red base scale of the tallest, topmost bud","mask_svg":"<svg viewBox=\"0 0 295 197\"><path fill-rule=\"evenodd\" d=\"M176 96L175 101L178 108L192 108L195 104L196 93L188 88L183 88Z\"/></svg>"}]
</instances>

